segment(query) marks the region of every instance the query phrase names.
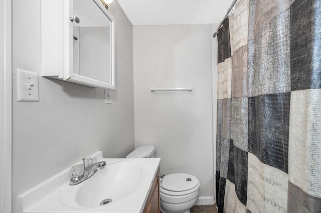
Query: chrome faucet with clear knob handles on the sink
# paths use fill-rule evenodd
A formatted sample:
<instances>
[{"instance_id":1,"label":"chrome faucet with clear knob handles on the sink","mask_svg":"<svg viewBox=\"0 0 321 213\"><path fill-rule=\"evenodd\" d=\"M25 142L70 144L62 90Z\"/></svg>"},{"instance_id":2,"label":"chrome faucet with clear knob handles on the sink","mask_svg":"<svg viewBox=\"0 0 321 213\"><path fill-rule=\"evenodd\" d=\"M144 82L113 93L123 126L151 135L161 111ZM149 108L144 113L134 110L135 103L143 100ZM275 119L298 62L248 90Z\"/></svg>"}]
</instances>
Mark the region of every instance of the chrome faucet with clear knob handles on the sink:
<instances>
[{"instance_id":1,"label":"chrome faucet with clear knob handles on the sink","mask_svg":"<svg viewBox=\"0 0 321 213\"><path fill-rule=\"evenodd\" d=\"M85 159L86 158L82 159L83 160L82 174L80 176L73 176L72 175L73 177L71 177L71 179L69 181L69 185L76 185L76 184L83 182L84 180L91 177L97 171L98 168L103 169L106 166L106 161L100 161L100 162L95 162L95 163L90 164L85 167Z\"/></svg>"}]
</instances>

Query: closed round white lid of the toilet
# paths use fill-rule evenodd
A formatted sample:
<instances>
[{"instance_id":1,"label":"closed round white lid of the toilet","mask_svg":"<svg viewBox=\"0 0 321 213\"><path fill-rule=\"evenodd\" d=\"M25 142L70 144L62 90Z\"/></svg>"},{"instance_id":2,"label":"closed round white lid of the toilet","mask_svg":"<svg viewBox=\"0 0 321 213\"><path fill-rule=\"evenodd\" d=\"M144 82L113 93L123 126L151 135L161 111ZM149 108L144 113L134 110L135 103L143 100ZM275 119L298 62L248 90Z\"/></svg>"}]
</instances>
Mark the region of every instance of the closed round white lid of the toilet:
<instances>
[{"instance_id":1,"label":"closed round white lid of the toilet","mask_svg":"<svg viewBox=\"0 0 321 213\"><path fill-rule=\"evenodd\" d=\"M195 188L199 180L192 174L174 173L166 175L162 187L170 191L185 191Z\"/></svg>"}]
</instances>

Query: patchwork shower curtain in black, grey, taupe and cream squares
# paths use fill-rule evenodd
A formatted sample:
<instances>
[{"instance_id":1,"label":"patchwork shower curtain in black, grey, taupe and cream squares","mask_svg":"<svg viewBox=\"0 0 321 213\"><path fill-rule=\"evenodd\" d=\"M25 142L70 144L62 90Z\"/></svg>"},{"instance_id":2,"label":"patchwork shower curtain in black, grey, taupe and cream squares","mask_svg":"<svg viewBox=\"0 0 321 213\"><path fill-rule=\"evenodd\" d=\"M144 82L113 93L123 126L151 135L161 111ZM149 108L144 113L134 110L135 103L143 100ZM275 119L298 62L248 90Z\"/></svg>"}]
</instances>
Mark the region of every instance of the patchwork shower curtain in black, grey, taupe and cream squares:
<instances>
[{"instance_id":1,"label":"patchwork shower curtain in black, grey, taupe and cream squares","mask_svg":"<svg viewBox=\"0 0 321 213\"><path fill-rule=\"evenodd\" d=\"M219 212L321 212L321 0L239 0L218 31Z\"/></svg>"}]
</instances>

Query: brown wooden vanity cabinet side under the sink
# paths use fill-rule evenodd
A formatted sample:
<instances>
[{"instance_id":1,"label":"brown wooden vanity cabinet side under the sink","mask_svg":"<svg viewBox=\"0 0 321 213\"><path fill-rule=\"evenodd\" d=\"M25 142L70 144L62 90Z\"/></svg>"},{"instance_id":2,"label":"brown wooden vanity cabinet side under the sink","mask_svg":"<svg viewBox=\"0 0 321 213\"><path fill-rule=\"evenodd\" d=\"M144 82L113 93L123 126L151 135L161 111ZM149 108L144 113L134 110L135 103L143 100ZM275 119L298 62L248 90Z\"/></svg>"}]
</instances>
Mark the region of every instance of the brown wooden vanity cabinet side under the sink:
<instances>
[{"instance_id":1,"label":"brown wooden vanity cabinet side under the sink","mask_svg":"<svg viewBox=\"0 0 321 213\"><path fill-rule=\"evenodd\" d=\"M159 168L154 177L151 189L147 196L147 201L143 209L143 213L160 213L161 212L161 200L159 196Z\"/></svg>"}]
</instances>

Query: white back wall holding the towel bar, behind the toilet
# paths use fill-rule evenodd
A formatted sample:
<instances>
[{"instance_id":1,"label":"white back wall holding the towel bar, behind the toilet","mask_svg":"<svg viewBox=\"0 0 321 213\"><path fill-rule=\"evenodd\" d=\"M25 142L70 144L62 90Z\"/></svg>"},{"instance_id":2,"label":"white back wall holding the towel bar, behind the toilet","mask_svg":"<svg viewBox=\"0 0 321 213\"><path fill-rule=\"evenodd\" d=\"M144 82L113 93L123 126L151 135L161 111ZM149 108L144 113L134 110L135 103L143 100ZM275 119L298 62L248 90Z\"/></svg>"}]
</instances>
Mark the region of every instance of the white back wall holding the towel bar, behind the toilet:
<instances>
[{"instance_id":1,"label":"white back wall holding the towel bar, behind the toilet","mask_svg":"<svg viewBox=\"0 0 321 213\"><path fill-rule=\"evenodd\" d=\"M198 177L200 196L214 196L211 39L211 24L133 27L135 146L153 144L164 174Z\"/></svg>"}]
</instances>

